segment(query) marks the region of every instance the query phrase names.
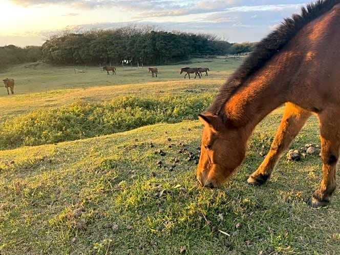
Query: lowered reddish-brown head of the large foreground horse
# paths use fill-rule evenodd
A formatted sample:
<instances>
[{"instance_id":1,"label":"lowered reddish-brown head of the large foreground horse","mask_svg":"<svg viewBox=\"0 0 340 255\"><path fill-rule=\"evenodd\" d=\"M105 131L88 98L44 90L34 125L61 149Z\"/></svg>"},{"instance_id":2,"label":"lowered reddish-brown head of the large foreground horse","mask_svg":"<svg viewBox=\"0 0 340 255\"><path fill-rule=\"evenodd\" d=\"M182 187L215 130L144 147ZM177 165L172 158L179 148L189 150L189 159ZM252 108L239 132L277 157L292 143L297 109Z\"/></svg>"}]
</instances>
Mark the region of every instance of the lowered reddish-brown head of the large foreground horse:
<instances>
[{"instance_id":1,"label":"lowered reddish-brown head of the large foreground horse","mask_svg":"<svg viewBox=\"0 0 340 255\"><path fill-rule=\"evenodd\" d=\"M202 186L217 187L241 164L247 138L221 116L201 114L199 119L204 129L197 179Z\"/></svg>"}]
</instances>

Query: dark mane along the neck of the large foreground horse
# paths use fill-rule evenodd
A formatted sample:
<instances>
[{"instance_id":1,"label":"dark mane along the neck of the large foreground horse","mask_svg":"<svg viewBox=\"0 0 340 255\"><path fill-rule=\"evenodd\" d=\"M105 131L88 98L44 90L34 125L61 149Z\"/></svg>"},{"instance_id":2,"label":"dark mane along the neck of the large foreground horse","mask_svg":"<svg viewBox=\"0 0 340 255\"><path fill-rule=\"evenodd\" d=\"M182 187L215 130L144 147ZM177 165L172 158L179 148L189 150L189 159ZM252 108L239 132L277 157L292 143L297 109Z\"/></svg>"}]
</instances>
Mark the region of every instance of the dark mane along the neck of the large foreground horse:
<instances>
[{"instance_id":1,"label":"dark mane along the neck of the large foreground horse","mask_svg":"<svg viewBox=\"0 0 340 255\"><path fill-rule=\"evenodd\" d=\"M293 14L291 18L285 18L282 24L267 37L262 39L254 51L244 60L239 67L224 83L215 101L206 112L218 115L227 100L234 95L244 81L260 68L287 42L298 33L306 24L329 11L340 0L317 0L301 9L301 14Z\"/></svg>"}]
</instances>

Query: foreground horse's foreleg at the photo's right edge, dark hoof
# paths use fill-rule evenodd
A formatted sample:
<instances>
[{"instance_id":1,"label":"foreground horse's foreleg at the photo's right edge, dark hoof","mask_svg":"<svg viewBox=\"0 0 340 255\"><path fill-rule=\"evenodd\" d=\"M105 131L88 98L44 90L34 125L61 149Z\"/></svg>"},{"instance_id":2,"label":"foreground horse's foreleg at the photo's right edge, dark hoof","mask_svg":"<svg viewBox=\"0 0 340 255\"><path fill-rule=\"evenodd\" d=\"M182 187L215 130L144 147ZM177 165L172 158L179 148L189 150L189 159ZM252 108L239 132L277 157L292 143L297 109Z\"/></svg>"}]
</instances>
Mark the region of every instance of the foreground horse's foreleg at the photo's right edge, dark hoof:
<instances>
[{"instance_id":1,"label":"foreground horse's foreleg at the photo's right edge, dark hoof","mask_svg":"<svg viewBox=\"0 0 340 255\"><path fill-rule=\"evenodd\" d=\"M321 159L323 162L323 178L315 190L309 204L313 207L325 206L336 187L336 163L340 148L340 120L338 111L328 111L320 114Z\"/></svg>"}]
</instances>

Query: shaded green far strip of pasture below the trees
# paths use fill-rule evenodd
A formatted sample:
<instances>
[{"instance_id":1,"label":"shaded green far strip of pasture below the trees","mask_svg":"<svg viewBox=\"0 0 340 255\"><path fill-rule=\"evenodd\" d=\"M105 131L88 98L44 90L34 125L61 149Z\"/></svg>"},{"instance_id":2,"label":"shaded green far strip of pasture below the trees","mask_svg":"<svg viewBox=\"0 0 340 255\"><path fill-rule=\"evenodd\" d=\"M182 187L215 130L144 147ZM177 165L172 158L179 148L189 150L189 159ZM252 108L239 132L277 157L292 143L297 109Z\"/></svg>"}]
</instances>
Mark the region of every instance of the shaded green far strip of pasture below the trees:
<instances>
[{"instance_id":1,"label":"shaded green far strip of pasture below the trees","mask_svg":"<svg viewBox=\"0 0 340 255\"><path fill-rule=\"evenodd\" d=\"M53 67L41 64L36 69L25 68L25 65L17 65L0 73L0 77L9 77L15 80L15 94L35 93L50 90L69 90L75 88L88 88L94 86L112 86L121 84L135 84L145 82L182 80L184 74L179 74L179 69L183 66L209 67L209 78L225 79L236 67L240 65L243 58L222 59L218 61L201 61L200 59L172 66L157 66L158 77L152 78L147 72L147 67L143 69L136 67L117 67L116 75L107 75L100 67L79 67L77 69L87 69L86 73L74 73L74 67ZM194 76L195 77L195 76ZM192 77L192 78L194 78ZM205 78L205 77L204 77ZM3 88L0 96L7 96L7 90Z\"/></svg>"}]
</instances>

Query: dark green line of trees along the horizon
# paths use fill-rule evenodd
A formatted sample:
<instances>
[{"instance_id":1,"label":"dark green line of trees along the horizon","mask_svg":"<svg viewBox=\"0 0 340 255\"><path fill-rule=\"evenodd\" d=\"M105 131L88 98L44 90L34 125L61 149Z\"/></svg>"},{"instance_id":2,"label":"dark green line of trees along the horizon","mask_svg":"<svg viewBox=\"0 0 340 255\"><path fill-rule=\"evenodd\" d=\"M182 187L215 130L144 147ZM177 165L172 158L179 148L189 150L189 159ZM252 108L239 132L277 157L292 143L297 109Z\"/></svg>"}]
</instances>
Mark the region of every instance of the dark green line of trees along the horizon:
<instances>
[{"instance_id":1,"label":"dark green line of trees along the horizon","mask_svg":"<svg viewBox=\"0 0 340 255\"><path fill-rule=\"evenodd\" d=\"M188 60L189 54L251 51L254 43L231 44L214 35L157 31L133 26L112 30L63 32L41 47L0 47L2 65L41 59L56 65L166 65ZM2 68L2 66L0 66Z\"/></svg>"}]
</instances>

